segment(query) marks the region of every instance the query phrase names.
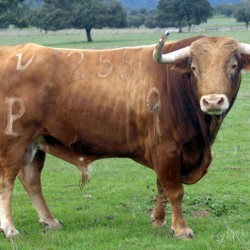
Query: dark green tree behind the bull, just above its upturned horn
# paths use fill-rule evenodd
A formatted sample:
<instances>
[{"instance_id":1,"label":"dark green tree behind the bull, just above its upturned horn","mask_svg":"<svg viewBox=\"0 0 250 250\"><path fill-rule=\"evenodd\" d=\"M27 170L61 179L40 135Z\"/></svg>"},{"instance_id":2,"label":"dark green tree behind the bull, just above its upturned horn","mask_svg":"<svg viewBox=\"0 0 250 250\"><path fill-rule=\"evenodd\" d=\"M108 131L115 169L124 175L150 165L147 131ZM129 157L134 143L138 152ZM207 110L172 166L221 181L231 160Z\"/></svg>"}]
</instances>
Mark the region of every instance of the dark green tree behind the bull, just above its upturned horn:
<instances>
[{"instance_id":1,"label":"dark green tree behind the bull, just above its upturned horn","mask_svg":"<svg viewBox=\"0 0 250 250\"><path fill-rule=\"evenodd\" d=\"M157 6L157 21L160 27L178 27L206 22L213 16L213 8L207 0L160 0Z\"/></svg>"}]
</instances>

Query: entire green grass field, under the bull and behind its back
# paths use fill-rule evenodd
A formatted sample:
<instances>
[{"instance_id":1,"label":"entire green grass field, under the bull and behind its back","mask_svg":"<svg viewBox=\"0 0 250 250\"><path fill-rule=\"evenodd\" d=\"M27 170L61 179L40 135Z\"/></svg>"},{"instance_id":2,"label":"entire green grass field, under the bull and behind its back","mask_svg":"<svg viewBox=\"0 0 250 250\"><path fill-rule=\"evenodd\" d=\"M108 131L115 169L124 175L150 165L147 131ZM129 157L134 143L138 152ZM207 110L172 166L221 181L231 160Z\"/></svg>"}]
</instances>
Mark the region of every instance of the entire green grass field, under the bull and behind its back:
<instances>
[{"instance_id":1,"label":"entire green grass field, under the bull and behind its back","mask_svg":"<svg viewBox=\"0 0 250 250\"><path fill-rule=\"evenodd\" d=\"M0 44L35 42L54 47L110 48L152 44L159 31L103 30L93 33L94 43L83 42L82 34L0 37ZM182 39L197 33L173 33ZM210 32L250 42L250 32ZM92 180L79 189L77 169L48 156L43 172L46 200L60 230L48 230L38 217L23 187L16 181L13 213L22 236L7 240L0 235L0 249L250 249L250 74L243 75L238 99L224 121L213 147L209 173L197 184L185 186L183 209L196 233L192 241L170 236L167 226L153 229L150 210L154 206L155 174L128 159L97 161Z\"/></svg>"}]
</instances>

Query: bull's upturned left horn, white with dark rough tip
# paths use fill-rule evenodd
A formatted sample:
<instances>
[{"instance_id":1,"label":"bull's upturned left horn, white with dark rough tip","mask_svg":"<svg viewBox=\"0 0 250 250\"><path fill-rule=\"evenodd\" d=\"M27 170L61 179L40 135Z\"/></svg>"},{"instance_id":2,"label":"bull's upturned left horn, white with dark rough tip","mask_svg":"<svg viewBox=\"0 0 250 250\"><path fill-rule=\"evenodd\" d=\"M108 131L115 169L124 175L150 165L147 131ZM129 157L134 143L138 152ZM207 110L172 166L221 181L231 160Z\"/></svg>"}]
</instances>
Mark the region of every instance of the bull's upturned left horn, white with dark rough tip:
<instances>
[{"instance_id":1,"label":"bull's upturned left horn, white with dark rough tip","mask_svg":"<svg viewBox=\"0 0 250 250\"><path fill-rule=\"evenodd\" d=\"M169 32L166 31L155 46L153 58L157 63L174 63L177 59L185 58L190 55L190 46L162 55L162 48L168 36Z\"/></svg>"}]
</instances>

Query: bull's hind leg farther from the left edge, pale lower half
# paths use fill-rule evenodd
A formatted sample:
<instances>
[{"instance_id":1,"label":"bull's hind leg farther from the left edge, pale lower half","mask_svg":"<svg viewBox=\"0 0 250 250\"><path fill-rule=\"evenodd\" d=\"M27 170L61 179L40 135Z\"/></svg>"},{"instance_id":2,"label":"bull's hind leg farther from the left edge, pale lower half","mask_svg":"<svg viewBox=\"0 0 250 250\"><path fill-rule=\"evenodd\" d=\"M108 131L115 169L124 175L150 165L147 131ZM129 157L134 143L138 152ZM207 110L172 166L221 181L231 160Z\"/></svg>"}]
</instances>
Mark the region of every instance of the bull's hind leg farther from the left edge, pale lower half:
<instances>
[{"instance_id":1,"label":"bull's hind leg farther from the left edge, pale lower half","mask_svg":"<svg viewBox=\"0 0 250 250\"><path fill-rule=\"evenodd\" d=\"M41 172L44 161L45 153L38 150L33 161L20 169L18 177L39 215L39 222L50 228L58 228L61 225L59 221L52 216L42 194Z\"/></svg>"}]
</instances>

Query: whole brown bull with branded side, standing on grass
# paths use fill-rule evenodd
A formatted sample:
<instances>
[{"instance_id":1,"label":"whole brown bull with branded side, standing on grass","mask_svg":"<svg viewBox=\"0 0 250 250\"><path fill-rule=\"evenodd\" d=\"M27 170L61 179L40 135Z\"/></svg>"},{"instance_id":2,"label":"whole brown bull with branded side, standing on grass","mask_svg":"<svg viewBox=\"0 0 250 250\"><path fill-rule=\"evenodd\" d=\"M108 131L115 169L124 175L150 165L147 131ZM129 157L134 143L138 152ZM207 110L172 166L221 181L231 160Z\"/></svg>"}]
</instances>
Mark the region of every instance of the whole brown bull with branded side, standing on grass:
<instances>
[{"instance_id":1,"label":"whole brown bull with branded side, standing on grass","mask_svg":"<svg viewBox=\"0 0 250 250\"><path fill-rule=\"evenodd\" d=\"M154 226L165 224L169 200L173 236L194 236L182 214L183 183L207 172L240 71L250 68L250 45L228 37L164 42L165 36L155 49L0 49L0 219L6 237L19 234L11 213L17 175L40 222L60 226L41 190L46 152L78 166L83 181L88 164L105 157L129 157L153 169Z\"/></svg>"}]
</instances>

